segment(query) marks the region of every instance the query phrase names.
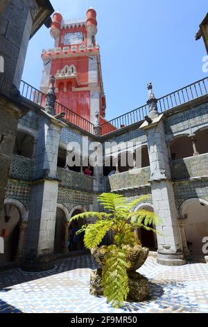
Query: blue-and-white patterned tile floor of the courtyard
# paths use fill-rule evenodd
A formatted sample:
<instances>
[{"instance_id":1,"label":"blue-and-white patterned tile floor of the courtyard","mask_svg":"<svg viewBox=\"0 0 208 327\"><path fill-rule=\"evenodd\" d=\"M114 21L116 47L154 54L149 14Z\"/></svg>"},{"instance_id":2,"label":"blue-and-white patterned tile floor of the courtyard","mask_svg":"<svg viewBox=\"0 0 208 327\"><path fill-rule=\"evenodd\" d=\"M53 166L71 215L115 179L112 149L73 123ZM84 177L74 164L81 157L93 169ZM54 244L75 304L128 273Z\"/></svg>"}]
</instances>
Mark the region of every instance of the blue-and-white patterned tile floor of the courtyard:
<instances>
[{"instance_id":1,"label":"blue-and-white patterned tile floor of the courtyard","mask_svg":"<svg viewBox=\"0 0 208 327\"><path fill-rule=\"evenodd\" d=\"M96 264L85 255L59 261L44 273L0 272L0 313L208 312L208 264L168 267L148 258L139 272L150 281L150 300L119 310L89 295L92 269Z\"/></svg>"}]
</instances>

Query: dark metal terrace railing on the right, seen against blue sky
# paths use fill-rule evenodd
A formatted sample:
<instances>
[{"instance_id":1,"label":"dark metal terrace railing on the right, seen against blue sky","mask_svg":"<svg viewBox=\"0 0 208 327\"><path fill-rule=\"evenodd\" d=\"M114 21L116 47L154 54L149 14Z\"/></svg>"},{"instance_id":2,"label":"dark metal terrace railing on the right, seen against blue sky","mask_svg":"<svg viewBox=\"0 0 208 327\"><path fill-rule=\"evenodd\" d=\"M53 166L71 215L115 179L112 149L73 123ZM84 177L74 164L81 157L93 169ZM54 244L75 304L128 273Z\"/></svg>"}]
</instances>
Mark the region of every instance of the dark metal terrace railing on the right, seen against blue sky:
<instances>
[{"instance_id":1,"label":"dark metal terrace railing on the right, seen against blue sky","mask_svg":"<svg viewBox=\"0 0 208 327\"><path fill-rule=\"evenodd\" d=\"M205 79L200 79L200 81L196 81L189 86L185 86L184 88L180 88L180 90L176 90L173 93L159 98L157 104L158 111L164 112L169 109L173 109L176 106L180 106L181 104L185 104L193 99L198 99L203 95L207 95L207 93L208 77L205 77ZM148 112L149 110L146 104L133 111L125 113L124 115L114 118L109 122L105 122L103 125L101 125L101 135L109 134L116 129L121 129L122 127L140 122L141 120L144 120L144 117L148 115Z\"/></svg>"}]
</instances>

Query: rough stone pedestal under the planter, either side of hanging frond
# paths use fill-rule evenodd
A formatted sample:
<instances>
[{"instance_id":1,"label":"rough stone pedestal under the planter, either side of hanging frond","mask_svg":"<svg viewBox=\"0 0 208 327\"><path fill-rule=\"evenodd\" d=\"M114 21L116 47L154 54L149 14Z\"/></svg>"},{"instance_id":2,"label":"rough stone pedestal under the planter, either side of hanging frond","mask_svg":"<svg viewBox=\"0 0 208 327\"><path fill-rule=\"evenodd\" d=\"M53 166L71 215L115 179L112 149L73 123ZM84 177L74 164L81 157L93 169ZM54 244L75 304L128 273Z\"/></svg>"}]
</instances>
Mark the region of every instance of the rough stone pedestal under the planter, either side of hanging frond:
<instances>
[{"instance_id":1,"label":"rough stone pedestal under the planter, either side of hanging frond","mask_svg":"<svg viewBox=\"0 0 208 327\"><path fill-rule=\"evenodd\" d=\"M92 271L90 276L90 289L89 293L93 296L103 296L103 287L101 285L102 270L96 269ZM148 287L148 279L140 273L131 272L129 276L130 292L127 301L146 301L150 297Z\"/></svg>"}]
</instances>

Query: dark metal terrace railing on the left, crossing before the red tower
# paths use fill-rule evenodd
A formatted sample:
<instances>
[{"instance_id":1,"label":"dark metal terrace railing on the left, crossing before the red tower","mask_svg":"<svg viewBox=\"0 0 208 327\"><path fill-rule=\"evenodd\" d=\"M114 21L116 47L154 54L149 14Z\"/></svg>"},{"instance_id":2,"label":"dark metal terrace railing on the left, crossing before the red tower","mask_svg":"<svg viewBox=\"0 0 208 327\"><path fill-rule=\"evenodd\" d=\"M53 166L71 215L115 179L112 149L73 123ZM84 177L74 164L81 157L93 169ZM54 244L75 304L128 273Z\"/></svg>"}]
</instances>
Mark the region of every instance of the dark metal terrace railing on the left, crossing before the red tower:
<instances>
[{"instance_id":1,"label":"dark metal terrace railing on the left, crossing before the red tower","mask_svg":"<svg viewBox=\"0 0 208 327\"><path fill-rule=\"evenodd\" d=\"M34 88L25 81L21 81L19 91L22 97L25 97L26 99L31 102L34 102L35 104L38 104L42 107L42 109L44 109L46 103L46 95L40 90L37 90L37 88ZM71 122L71 124L73 125L80 127L81 129L84 129L85 131L88 131L90 134L94 134L94 125L92 124L92 122L89 122L85 118L81 117L77 113L74 113L69 108L63 106L57 101L55 101L55 113L65 113L65 120Z\"/></svg>"}]
</instances>

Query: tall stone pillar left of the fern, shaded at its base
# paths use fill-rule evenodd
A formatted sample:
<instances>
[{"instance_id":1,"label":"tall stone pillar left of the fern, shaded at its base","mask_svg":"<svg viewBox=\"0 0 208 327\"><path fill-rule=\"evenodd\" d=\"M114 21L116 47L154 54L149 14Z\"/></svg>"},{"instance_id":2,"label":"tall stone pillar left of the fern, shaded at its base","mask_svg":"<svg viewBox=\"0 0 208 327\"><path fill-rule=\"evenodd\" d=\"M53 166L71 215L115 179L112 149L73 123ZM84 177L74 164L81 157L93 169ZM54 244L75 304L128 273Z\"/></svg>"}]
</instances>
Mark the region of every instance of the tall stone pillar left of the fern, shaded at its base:
<instances>
[{"instance_id":1,"label":"tall stone pillar left of the fern, shaded at its base","mask_svg":"<svg viewBox=\"0 0 208 327\"><path fill-rule=\"evenodd\" d=\"M62 122L47 113L40 117L39 138L34 158L35 182L31 190L24 250L24 269L27 270L45 270L53 266L51 262L59 184L56 172L60 130L63 126Z\"/></svg>"}]
</instances>

